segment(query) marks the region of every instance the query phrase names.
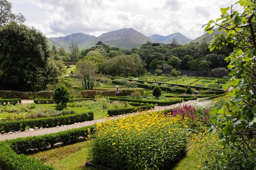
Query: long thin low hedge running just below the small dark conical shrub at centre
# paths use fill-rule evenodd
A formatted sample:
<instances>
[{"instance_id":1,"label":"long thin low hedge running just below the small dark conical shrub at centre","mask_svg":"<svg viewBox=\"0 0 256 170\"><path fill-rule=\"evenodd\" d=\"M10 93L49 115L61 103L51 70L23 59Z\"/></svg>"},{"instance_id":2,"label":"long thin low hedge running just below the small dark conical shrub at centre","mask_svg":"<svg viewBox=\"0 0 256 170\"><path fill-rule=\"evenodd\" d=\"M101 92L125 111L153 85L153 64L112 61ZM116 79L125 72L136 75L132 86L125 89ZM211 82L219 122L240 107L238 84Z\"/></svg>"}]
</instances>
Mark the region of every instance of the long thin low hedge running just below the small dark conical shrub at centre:
<instances>
[{"instance_id":1,"label":"long thin low hedge running just below the small dark conical shrub at centre","mask_svg":"<svg viewBox=\"0 0 256 170\"><path fill-rule=\"evenodd\" d=\"M190 98L177 98L172 99L170 101L154 101L154 100L137 100L137 99L130 99L130 98L118 98L118 97L109 97L110 100L119 100L119 101L127 101L127 102L139 102L139 103L148 103L148 104L158 104L158 106L168 106L172 104L176 104L179 102L188 101L188 100L196 100L197 97L190 97Z\"/></svg>"}]
</instances>

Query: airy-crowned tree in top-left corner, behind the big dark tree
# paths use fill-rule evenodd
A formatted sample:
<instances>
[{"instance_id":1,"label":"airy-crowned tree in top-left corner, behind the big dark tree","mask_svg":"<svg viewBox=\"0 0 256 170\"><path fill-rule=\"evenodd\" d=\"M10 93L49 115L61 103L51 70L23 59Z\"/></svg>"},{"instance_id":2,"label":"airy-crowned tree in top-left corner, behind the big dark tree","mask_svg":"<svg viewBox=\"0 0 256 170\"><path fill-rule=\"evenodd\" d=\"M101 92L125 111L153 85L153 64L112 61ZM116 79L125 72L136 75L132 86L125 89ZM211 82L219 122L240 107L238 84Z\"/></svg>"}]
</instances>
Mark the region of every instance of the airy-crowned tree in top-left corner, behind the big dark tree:
<instances>
[{"instance_id":1,"label":"airy-crowned tree in top-left corner, behind the big dark tree","mask_svg":"<svg viewBox=\"0 0 256 170\"><path fill-rule=\"evenodd\" d=\"M12 13L12 3L7 0L0 0L0 25L5 25L10 21L16 21L18 23L25 22L26 19L21 13Z\"/></svg>"}]
</instances>

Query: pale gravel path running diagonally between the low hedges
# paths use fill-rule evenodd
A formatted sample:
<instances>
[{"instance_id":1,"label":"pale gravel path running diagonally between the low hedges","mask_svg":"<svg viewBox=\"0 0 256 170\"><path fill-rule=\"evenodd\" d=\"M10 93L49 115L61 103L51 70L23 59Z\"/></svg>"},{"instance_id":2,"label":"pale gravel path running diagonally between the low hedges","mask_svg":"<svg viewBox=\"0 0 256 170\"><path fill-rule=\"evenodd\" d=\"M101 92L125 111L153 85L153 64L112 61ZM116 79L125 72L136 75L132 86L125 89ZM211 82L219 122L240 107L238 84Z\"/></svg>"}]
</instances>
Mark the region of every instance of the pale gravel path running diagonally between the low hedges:
<instances>
[{"instance_id":1,"label":"pale gravel path running diagonally between the low hedges","mask_svg":"<svg viewBox=\"0 0 256 170\"><path fill-rule=\"evenodd\" d=\"M193 100L193 102L197 102L200 99L202 99L202 98L197 98L197 100ZM184 102L184 104L185 103L187 103L187 102ZM171 109L171 108L179 106L179 104L180 103L172 104L170 106L155 106L155 109L153 109L152 112L157 112L157 111L164 110L164 109ZM108 119L111 119L111 118L116 120L116 119L119 119L120 117L127 117L129 115L134 116L135 114L138 114L138 112L137 113L125 114L125 115L113 116L113 117L109 117L109 118L105 118L105 119L85 121L83 123L75 123L75 124L61 126L61 127L49 127L47 129L42 129L42 130L37 130L37 131L23 131L23 132L20 132L20 133L0 135L0 141L1 140L6 140L6 139L20 138L20 137L38 136L38 135L45 135L45 134L49 134L49 133L57 133L57 132L66 131L66 130L69 130L69 129L75 129L75 128L85 127L85 126L89 126L89 125L94 125L95 123L101 123L101 122L104 122L104 121L106 121Z\"/></svg>"}]
</instances>

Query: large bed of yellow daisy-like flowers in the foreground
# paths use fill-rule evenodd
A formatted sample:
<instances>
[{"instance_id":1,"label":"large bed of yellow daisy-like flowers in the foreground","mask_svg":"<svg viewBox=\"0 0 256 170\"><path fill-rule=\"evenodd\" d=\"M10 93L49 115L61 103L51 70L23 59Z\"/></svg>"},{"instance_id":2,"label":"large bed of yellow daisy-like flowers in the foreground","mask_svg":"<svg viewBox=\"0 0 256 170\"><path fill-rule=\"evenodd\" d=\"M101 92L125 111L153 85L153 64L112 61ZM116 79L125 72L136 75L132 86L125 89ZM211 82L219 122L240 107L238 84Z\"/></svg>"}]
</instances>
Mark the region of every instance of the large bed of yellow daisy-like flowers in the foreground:
<instances>
[{"instance_id":1,"label":"large bed of yellow daisy-like flowers in the foreground","mask_svg":"<svg viewBox=\"0 0 256 170\"><path fill-rule=\"evenodd\" d=\"M90 156L94 163L115 169L159 169L185 149L189 134L185 122L162 112L142 112L99 123Z\"/></svg>"}]
</instances>

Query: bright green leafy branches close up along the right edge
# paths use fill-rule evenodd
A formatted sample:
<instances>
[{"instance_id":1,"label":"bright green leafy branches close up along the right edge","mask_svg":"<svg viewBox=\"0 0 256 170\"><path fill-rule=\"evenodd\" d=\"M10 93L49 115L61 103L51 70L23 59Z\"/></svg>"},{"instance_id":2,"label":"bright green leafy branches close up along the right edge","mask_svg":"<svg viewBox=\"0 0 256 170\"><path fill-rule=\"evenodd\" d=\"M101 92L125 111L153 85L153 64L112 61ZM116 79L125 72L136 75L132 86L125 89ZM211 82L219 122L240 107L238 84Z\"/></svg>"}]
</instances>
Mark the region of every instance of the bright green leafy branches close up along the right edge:
<instances>
[{"instance_id":1,"label":"bright green leafy branches close up along the right edge","mask_svg":"<svg viewBox=\"0 0 256 170\"><path fill-rule=\"evenodd\" d=\"M255 1L240 0L236 4L243 7L243 13L235 11L232 7L221 8L221 18L210 20L205 25L205 31L209 34L213 32L214 26L225 32L225 35L214 35L209 45L210 51L221 49L228 44L235 46L233 53L225 58L230 62L228 68L232 68L230 82L233 90L230 93L230 100L225 106L218 106L212 110L211 114L215 114L216 119L212 119L214 125L209 132L213 134L218 129L219 144L237 147L243 154L235 153L234 158L244 156L240 164L253 164L255 167ZM243 147L249 150L249 153Z\"/></svg>"}]
</instances>

